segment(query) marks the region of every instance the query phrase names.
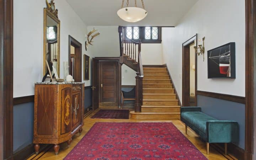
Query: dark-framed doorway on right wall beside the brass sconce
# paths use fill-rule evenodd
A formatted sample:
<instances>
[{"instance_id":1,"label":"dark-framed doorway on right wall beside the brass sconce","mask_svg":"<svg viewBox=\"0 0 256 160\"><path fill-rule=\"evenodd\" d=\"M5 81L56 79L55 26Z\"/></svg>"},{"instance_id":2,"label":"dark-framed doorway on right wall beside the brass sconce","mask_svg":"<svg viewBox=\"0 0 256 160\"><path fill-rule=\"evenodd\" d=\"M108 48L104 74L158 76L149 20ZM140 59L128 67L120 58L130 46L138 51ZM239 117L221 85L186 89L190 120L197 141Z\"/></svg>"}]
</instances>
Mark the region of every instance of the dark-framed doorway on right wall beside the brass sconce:
<instances>
[{"instance_id":1,"label":"dark-framed doorway on right wall beside the brass sconce","mask_svg":"<svg viewBox=\"0 0 256 160\"><path fill-rule=\"evenodd\" d=\"M197 106L197 34L182 44L182 107Z\"/></svg>"}]
</instances>

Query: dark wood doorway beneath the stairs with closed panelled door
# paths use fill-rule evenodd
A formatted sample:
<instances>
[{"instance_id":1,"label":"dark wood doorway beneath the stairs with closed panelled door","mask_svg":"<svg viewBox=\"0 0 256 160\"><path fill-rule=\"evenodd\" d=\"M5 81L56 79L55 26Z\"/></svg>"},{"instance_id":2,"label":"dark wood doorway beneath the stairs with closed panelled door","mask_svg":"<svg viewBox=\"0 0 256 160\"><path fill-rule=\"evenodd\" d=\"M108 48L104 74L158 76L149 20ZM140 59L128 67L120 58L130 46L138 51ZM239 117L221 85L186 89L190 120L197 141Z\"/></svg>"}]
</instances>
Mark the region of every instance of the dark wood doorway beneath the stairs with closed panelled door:
<instances>
[{"instance_id":1,"label":"dark wood doorway beneath the stairs with closed panelled door","mask_svg":"<svg viewBox=\"0 0 256 160\"><path fill-rule=\"evenodd\" d=\"M121 65L119 57L93 58L92 105L96 108L119 108Z\"/></svg>"}]
</instances>

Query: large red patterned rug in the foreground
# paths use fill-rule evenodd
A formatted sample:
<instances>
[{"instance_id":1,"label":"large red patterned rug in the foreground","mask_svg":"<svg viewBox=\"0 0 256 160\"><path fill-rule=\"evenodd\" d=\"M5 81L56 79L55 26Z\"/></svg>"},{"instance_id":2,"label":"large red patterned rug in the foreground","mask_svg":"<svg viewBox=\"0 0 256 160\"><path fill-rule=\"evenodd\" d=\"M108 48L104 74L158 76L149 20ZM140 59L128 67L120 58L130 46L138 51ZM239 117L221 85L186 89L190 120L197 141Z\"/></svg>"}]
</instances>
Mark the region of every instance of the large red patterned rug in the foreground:
<instances>
[{"instance_id":1,"label":"large red patterned rug in the foreground","mask_svg":"<svg viewBox=\"0 0 256 160\"><path fill-rule=\"evenodd\" d=\"M97 122L64 160L207 160L172 123Z\"/></svg>"}]
</instances>

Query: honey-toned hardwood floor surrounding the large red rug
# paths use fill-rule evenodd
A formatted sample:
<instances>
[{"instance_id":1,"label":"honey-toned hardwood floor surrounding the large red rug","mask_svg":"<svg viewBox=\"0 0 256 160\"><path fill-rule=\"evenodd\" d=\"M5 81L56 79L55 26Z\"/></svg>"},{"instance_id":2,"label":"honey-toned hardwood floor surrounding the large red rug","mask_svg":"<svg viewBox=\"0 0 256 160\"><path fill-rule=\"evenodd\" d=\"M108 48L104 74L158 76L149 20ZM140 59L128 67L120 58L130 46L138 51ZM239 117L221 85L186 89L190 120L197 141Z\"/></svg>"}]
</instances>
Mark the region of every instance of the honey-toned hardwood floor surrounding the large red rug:
<instances>
[{"instance_id":1,"label":"honey-toned hardwood floor surrounding the large red rug","mask_svg":"<svg viewBox=\"0 0 256 160\"><path fill-rule=\"evenodd\" d=\"M225 159L234 159L233 156L224 156L223 153L219 151L218 148L210 146L210 154L206 154L206 143L204 143L192 130L188 128L188 135L185 134L185 125L180 120L143 120L143 119L90 119L99 109L95 110L92 114L87 116L84 119L84 127L79 136L79 133L76 134L72 139L73 141L68 148L68 144L60 144L59 154L55 155L55 152L52 148L52 145L49 146L42 153L32 155L29 160L61 160L75 147L75 145L84 137L84 135L90 130L90 128L95 124L95 122L172 122L182 133L185 135L198 149L202 152L206 158L209 160L225 160ZM216 150L217 149L217 150Z\"/></svg>"}]
</instances>

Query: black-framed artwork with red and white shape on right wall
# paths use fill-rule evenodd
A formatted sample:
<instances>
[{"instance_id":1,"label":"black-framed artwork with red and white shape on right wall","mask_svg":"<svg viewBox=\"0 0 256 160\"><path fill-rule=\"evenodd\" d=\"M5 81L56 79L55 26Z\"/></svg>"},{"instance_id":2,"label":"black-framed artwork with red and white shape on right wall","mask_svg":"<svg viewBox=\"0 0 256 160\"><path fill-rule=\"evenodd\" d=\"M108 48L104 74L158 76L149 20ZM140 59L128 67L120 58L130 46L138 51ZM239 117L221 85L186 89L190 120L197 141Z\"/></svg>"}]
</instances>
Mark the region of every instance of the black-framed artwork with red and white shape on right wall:
<instances>
[{"instance_id":1,"label":"black-framed artwork with red and white shape on right wall","mask_svg":"<svg viewBox=\"0 0 256 160\"><path fill-rule=\"evenodd\" d=\"M235 79L235 42L207 52L208 79Z\"/></svg>"}]
</instances>

